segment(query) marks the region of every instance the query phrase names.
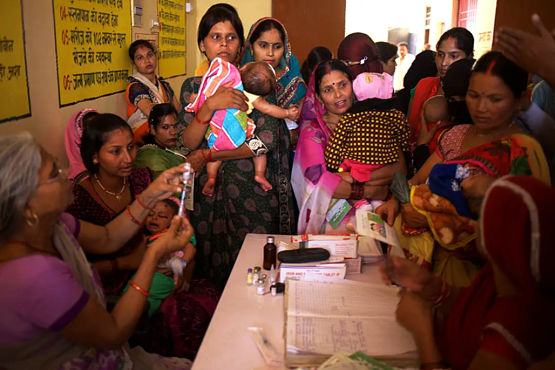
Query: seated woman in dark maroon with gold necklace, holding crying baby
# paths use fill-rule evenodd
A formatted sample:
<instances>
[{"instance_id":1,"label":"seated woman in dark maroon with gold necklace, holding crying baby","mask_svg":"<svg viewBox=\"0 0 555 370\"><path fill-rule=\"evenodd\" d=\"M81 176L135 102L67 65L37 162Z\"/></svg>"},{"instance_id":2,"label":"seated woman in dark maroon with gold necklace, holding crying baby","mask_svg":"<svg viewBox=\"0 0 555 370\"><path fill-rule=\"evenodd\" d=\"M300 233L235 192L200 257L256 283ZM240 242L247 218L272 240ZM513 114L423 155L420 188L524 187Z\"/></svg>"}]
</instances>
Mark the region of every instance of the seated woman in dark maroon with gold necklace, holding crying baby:
<instances>
[{"instance_id":1,"label":"seated woman in dark maroon with gold necklace, holding crying baby","mask_svg":"<svg viewBox=\"0 0 555 370\"><path fill-rule=\"evenodd\" d=\"M146 168L134 168L137 149L129 125L114 114L100 114L85 127L81 155L90 176L74 188L75 201L68 212L95 225L107 225L129 205L153 179ZM152 208L152 207L151 207ZM137 232L110 255L89 253L100 272L104 291L121 295L145 255L145 238ZM176 292L166 298L150 321L149 348L193 359L200 347L219 293L206 280L188 283L181 279Z\"/></svg>"}]
</instances>

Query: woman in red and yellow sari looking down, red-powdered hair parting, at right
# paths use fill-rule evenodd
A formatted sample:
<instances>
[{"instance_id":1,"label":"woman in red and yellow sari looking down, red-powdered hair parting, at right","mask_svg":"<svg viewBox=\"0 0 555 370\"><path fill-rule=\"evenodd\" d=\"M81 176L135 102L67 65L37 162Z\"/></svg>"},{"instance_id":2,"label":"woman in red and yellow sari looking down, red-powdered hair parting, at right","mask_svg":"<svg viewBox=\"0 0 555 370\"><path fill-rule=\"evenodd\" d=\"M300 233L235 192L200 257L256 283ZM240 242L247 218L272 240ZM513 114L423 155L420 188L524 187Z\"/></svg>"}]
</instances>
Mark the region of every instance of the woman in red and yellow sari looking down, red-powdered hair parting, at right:
<instances>
[{"instance_id":1,"label":"woman in red and yellow sari looking down, red-powdered hair parting, at right","mask_svg":"<svg viewBox=\"0 0 555 370\"><path fill-rule=\"evenodd\" d=\"M451 202L437 195L431 197L426 180L436 164L457 163L468 168L472 176L532 175L549 184L541 146L513 125L527 81L528 73L501 52L486 53L476 62L466 97L474 124L454 126L442 136L436 152L411 179L415 185L411 204L402 206L402 217L395 221L407 256L453 286L470 285L485 262L474 245L475 221L447 211L448 207L439 216L430 201L436 205ZM393 198L376 213L386 215L388 224L393 225L399 210L400 204ZM466 229L460 231L453 224Z\"/></svg>"}]
</instances>

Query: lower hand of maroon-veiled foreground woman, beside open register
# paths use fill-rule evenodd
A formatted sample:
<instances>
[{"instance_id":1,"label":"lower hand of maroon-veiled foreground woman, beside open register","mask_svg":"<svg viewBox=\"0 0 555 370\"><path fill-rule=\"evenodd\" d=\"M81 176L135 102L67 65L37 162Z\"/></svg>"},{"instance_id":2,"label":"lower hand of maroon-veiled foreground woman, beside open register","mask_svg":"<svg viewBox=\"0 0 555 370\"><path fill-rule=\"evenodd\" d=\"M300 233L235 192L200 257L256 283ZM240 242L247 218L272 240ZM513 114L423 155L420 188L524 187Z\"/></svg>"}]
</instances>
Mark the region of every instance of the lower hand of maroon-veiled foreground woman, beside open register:
<instances>
[{"instance_id":1,"label":"lower hand of maroon-veiled foreground woman, beside open register","mask_svg":"<svg viewBox=\"0 0 555 370\"><path fill-rule=\"evenodd\" d=\"M401 300L397 305L397 322L415 337L433 333L432 310L430 305L415 293L401 290Z\"/></svg>"}]
</instances>

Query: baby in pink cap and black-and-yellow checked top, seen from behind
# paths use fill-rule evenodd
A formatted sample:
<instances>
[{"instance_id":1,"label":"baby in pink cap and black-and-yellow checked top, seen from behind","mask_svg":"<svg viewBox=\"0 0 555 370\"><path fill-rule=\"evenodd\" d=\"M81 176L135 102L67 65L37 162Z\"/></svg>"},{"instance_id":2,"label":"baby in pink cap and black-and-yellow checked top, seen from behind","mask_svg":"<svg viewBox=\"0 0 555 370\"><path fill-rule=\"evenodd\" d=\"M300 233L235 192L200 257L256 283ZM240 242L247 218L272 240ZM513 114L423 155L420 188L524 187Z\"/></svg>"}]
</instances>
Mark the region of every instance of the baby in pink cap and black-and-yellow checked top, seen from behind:
<instances>
[{"instance_id":1,"label":"baby in pink cap and black-and-yellow checked top, seen from behind","mask_svg":"<svg viewBox=\"0 0 555 370\"><path fill-rule=\"evenodd\" d=\"M364 183L372 171L399 160L399 150L410 149L407 119L393 108L393 77L362 73L352 84L359 102L344 114L325 151L330 171L350 171Z\"/></svg>"}]
</instances>

